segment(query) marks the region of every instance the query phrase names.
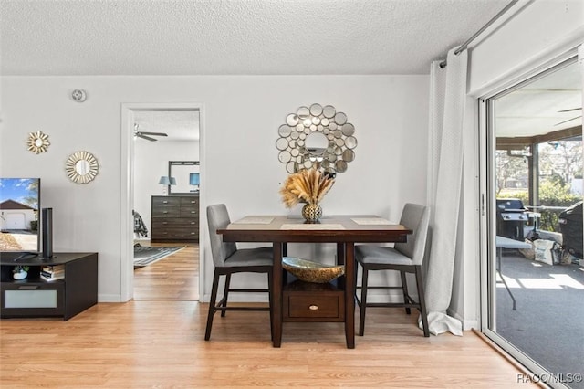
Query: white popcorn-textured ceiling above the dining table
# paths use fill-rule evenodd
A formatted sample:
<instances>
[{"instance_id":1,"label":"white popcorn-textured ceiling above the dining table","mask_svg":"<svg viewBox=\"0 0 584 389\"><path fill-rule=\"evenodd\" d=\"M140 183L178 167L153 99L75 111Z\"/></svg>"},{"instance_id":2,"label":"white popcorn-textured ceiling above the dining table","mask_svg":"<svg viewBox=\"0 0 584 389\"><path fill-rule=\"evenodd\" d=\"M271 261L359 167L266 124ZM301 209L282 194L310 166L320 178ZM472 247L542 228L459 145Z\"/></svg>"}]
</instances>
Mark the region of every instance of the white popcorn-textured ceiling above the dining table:
<instances>
[{"instance_id":1,"label":"white popcorn-textured ceiling above the dining table","mask_svg":"<svg viewBox=\"0 0 584 389\"><path fill-rule=\"evenodd\" d=\"M508 0L1 0L3 75L427 74Z\"/></svg>"}]
</instances>

